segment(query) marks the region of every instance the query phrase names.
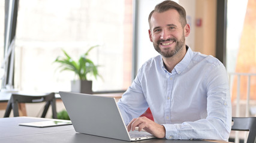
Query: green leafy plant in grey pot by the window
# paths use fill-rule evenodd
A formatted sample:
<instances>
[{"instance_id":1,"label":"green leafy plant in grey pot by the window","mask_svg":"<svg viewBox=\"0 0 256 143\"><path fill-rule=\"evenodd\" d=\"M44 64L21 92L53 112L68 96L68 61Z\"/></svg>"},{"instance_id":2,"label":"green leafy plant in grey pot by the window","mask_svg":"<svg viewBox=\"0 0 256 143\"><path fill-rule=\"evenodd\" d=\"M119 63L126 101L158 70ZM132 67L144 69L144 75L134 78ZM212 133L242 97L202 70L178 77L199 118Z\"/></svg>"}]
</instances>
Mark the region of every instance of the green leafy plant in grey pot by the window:
<instances>
[{"instance_id":1,"label":"green leafy plant in grey pot by the window","mask_svg":"<svg viewBox=\"0 0 256 143\"><path fill-rule=\"evenodd\" d=\"M92 81L87 79L87 75L88 73L93 74L95 79L97 79L97 76L100 76L100 74L98 74L98 66L87 57L89 52L97 46L98 45L91 46L85 54L80 56L78 61L74 61L64 49L62 49L62 51L64 52L65 57L56 58L55 62L61 64L59 66L61 71L73 71L76 77L79 77L79 80L71 81L71 92L92 94Z\"/></svg>"}]
</instances>

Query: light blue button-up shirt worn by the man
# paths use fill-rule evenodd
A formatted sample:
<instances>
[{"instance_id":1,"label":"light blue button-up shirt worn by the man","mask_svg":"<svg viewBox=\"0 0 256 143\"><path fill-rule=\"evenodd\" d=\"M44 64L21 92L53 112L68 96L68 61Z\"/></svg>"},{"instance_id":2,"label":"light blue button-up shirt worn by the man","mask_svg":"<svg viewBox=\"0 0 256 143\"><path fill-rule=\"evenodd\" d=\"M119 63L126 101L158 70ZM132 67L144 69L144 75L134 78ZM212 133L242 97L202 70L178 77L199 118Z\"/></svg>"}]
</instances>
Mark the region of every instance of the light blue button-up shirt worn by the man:
<instances>
[{"instance_id":1,"label":"light blue button-up shirt worn by the man","mask_svg":"<svg viewBox=\"0 0 256 143\"><path fill-rule=\"evenodd\" d=\"M125 123L149 107L167 139L228 140L231 100L227 71L210 55L193 52L174 69L165 69L161 55L150 58L118 102Z\"/></svg>"}]
</instances>

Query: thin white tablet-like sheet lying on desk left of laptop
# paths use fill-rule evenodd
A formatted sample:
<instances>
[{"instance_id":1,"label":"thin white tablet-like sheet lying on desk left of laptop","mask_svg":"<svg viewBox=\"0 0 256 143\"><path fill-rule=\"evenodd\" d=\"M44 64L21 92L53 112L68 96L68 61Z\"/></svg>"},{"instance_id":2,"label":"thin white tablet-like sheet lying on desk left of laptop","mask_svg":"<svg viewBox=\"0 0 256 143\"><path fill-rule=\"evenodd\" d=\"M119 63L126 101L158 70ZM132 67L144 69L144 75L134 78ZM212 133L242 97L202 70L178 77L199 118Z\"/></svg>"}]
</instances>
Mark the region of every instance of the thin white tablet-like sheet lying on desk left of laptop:
<instances>
[{"instance_id":1,"label":"thin white tablet-like sheet lying on desk left of laptop","mask_svg":"<svg viewBox=\"0 0 256 143\"><path fill-rule=\"evenodd\" d=\"M31 127L37 127L37 128L64 126L64 125L72 125L72 123L69 120L67 121L50 120L50 121L41 121L41 122L19 123L19 126L31 126Z\"/></svg>"}]
</instances>

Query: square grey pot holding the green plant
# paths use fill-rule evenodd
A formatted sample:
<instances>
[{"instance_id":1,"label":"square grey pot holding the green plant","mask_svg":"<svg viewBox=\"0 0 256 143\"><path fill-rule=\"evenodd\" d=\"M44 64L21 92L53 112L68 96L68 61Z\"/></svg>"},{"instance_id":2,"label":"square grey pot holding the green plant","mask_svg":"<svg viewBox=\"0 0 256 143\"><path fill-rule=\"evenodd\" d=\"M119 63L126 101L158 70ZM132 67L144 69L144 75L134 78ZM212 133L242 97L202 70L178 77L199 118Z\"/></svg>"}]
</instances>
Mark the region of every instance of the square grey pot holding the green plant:
<instances>
[{"instance_id":1,"label":"square grey pot holding the green plant","mask_svg":"<svg viewBox=\"0 0 256 143\"><path fill-rule=\"evenodd\" d=\"M71 92L77 92L82 94L92 94L92 81L72 80Z\"/></svg>"}]
</instances>

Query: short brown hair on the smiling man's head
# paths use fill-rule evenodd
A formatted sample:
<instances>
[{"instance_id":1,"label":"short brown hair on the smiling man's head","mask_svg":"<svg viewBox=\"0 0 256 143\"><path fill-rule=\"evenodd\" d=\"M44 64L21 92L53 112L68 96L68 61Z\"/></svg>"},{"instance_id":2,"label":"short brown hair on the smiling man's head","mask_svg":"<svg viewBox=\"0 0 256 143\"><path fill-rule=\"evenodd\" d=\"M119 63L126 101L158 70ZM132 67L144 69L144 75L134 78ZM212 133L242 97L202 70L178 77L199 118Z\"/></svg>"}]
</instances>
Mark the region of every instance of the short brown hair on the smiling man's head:
<instances>
[{"instance_id":1,"label":"short brown hair on the smiling man's head","mask_svg":"<svg viewBox=\"0 0 256 143\"><path fill-rule=\"evenodd\" d=\"M156 5L155 10L151 11L151 13L149 14L149 19L148 19L149 20L149 27L150 27L150 19L151 19L152 14L154 12L164 13L165 11L171 10L171 9L177 10L177 12L180 15L180 23L182 24L182 27L184 27L186 25L186 11L185 11L185 9L182 6L180 6L179 4L177 4L176 2L169 1L169 0L163 1L160 4Z\"/></svg>"}]
</instances>

